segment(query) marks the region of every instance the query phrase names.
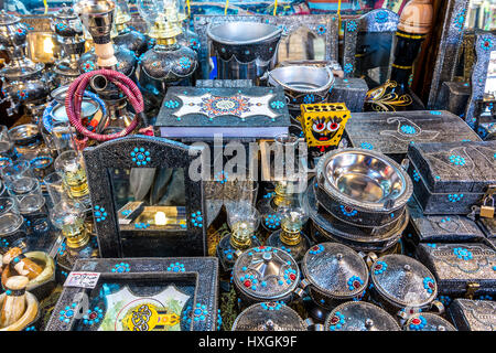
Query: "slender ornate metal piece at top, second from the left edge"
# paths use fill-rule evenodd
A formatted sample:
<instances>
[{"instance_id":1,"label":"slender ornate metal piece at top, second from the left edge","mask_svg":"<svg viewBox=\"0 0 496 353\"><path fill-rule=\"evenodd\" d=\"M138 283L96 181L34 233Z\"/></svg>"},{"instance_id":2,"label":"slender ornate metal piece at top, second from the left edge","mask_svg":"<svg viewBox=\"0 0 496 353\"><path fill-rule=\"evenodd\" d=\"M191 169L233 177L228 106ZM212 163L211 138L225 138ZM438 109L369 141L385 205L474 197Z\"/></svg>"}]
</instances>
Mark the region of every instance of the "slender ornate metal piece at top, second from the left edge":
<instances>
[{"instance_id":1,"label":"slender ornate metal piece at top, second from the left edge","mask_svg":"<svg viewBox=\"0 0 496 353\"><path fill-rule=\"evenodd\" d=\"M53 15L52 30L61 47L61 58L53 68L53 83L60 87L79 76L78 60L85 52L85 39L79 18L73 8L66 6Z\"/></svg>"}]
</instances>

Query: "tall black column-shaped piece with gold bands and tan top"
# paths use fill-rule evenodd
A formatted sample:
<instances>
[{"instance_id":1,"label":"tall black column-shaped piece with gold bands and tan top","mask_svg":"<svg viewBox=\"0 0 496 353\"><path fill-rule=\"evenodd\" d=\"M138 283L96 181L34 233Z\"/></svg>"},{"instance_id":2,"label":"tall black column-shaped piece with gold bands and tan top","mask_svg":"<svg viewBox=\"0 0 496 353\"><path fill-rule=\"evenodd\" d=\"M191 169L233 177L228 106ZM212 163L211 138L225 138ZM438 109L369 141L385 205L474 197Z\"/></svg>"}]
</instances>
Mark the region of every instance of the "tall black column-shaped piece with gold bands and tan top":
<instances>
[{"instance_id":1,"label":"tall black column-shaped piece with gold bands and tan top","mask_svg":"<svg viewBox=\"0 0 496 353\"><path fill-rule=\"evenodd\" d=\"M424 109L422 101L411 92L409 79L413 62L432 26L431 2L431 0L411 0L402 10L396 32L391 76L382 85L367 93L365 110Z\"/></svg>"}]
</instances>

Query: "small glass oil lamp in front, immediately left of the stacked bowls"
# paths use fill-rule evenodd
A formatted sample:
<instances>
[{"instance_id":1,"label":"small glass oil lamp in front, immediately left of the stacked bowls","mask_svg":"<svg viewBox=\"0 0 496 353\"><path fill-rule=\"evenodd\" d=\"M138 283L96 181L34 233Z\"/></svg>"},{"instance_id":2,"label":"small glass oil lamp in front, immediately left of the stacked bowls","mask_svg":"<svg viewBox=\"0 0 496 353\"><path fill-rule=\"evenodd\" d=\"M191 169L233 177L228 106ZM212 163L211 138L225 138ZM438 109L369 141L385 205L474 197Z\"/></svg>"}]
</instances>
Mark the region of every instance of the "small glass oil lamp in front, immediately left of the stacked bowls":
<instances>
[{"instance_id":1,"label":"small glass oil lamp in front, immediately left of the stacked bowls","mask_svg":"<svg viewBox=\"0 0 496 353\"><path fill-rule=\"evenodd\" d=\"M281 207L279 215L281 217L281 229L273 232L267 239L266 245L283 249L296 263L300 263L310 248L310 239L303 233L309 216L298 202L290 207Z\"/></svg>"}]
</instances>

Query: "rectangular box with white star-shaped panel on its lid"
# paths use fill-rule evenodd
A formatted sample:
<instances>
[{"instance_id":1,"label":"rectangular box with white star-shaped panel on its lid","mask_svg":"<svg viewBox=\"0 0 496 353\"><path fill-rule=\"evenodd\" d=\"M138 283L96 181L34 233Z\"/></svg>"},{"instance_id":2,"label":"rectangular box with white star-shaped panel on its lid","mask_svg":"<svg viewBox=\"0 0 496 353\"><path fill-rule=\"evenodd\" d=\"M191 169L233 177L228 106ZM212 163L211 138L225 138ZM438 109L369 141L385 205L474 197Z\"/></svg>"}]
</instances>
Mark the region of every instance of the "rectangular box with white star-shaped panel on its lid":
<instances>
[{"instance_id":1,"label":"rectangular box with white star-shaped panel on its lid","mask_svg":"<svg viewBox=\"0 0 496 353\"><path fill-rule=\"evenodd\" d=\"M290 124L281 87L171 87L155 126L166 138L272 139Z\"/></svg>"}]
</instances>

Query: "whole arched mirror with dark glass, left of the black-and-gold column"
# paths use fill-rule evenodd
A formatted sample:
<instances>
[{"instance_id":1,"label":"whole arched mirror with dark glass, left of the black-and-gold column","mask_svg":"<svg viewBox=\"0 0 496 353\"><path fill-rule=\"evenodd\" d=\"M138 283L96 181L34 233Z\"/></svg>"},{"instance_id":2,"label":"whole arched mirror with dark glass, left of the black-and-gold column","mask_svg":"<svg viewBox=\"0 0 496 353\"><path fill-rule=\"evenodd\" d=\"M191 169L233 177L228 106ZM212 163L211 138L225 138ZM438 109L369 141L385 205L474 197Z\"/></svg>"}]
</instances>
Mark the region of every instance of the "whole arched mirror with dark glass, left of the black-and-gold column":
<instances>
[{"instance_id":1,"label":"whole arched mirror with dark glass, left of the black-and-gold column","mask_svg":"<svg viewBox=\"0 0 496 353\"><path fill-rule=\"evenodd\" d=\"M387 81L398 21L397 13L384 9L344 21L345 77L364 78L370 89Z\"/></svg>"}]
</instances>

